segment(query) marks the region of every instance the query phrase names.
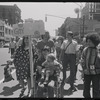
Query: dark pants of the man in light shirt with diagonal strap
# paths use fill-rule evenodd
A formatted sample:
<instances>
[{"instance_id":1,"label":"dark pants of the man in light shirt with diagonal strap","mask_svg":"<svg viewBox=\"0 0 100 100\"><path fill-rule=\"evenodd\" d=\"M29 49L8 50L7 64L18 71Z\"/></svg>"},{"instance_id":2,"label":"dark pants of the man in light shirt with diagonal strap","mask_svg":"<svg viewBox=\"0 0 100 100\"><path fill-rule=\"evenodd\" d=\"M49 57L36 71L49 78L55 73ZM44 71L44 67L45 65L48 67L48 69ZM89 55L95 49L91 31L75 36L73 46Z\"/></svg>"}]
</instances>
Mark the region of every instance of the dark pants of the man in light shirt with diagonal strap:
<instances>
[{"instance_id":1,"label":"dark pants of the man in light shirt with diagonal strap","mask_svg":"<svg viewBox=\"0 0 100 100\"><path fill-rule=\"evenodd\" d=\"M64 80L66 79L66 69L68 65L70 66L70 86L73 87L74 84L74 76L75 76L75 70L76 70L76 55L75 54L64 54L63 58L63 81L62 84L64 84Z\"/></svg>"}]
</instances>

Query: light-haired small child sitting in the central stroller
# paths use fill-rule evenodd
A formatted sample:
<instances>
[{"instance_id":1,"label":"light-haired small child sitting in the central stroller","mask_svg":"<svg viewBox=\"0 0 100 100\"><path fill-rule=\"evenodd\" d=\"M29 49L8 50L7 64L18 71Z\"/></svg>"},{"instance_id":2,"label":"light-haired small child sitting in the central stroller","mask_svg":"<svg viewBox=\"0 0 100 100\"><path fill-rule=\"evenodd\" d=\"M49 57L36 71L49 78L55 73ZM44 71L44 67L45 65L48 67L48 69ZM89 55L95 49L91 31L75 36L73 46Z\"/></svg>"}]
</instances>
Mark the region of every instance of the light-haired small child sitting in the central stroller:
<instances>
[{"instance_id":1,"label":"light-haired small child sitting in the central stroller","mask_svg":"<svg viewBox=\"0 0 100 100\"><path fill-rule=\"evenodd\" d=\"M56 61L56 58L52 53L48 54L46 61L42 63L42 66L44 66L44 69L42 70L42 79L45 76L46 82L49 80L50 76L53 76L55 72L60 73L60 70L62 69L61 64Z\"/></svg>"}]
</instances>

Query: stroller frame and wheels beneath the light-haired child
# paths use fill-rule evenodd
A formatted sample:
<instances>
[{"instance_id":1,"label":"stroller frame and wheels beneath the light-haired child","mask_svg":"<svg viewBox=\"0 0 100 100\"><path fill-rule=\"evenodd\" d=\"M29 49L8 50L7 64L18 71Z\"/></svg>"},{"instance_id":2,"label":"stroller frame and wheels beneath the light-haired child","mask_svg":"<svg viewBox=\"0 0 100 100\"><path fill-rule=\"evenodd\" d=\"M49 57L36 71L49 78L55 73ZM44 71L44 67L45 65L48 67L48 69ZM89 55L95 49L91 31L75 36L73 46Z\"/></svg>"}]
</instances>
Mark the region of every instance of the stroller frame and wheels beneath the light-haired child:
<instances>
[{"instance_id":1,"label":"stroller frame and wheels beneath the light-haired child","mask_svg":"<svg viewBox=\"0 0 100 100\"><path fill-rule=\"evenodd\" d=\"M48 81L45 81L45 79L40 80L37 88L37 96L49 98L49 95L51 95L50 97L61 98L61 79L59 73L55 72L53 77L51 76L48 79ZM49 86L51 80L54 80L54 88ZM41 87L41 85L43 85L43 87ZM49 94L50 91L52 94Z\"/></svg>"}]
</instances>

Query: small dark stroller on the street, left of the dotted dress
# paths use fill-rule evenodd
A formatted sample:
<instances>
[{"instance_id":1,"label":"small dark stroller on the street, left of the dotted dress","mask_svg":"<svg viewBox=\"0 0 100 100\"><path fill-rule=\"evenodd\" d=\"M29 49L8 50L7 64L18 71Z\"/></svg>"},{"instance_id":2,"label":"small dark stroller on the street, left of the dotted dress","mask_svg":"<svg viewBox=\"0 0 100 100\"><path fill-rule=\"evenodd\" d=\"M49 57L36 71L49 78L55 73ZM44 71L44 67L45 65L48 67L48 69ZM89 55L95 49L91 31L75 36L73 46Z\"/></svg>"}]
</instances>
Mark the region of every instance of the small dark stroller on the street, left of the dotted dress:
<instances>
[{"instance_id":1,"label":"small dark stroller on the street, left of the dotted dress","mask_svg":"<svg viewBox=\"0 0 100 100\"><path fill-rule=\"evenodd\" d=\"M13 61L8 60L7 64L1 65L1 66L5 66L4 67L4 81L3 81L3 83L14 80L14 78L12 77L12 74L11 74L13 67L9 67L9 65L12 65L12 64L13 64Z\"/></svg>"}]
</instances>

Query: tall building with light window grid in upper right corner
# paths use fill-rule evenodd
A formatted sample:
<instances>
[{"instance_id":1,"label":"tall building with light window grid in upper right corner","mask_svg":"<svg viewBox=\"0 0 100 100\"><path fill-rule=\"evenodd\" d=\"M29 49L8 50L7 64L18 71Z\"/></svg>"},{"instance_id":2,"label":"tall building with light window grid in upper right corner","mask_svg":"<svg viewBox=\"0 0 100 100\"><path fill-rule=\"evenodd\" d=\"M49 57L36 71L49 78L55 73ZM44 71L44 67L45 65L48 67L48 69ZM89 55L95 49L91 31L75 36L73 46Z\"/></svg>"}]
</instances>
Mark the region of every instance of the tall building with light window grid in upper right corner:
<instances>
[{"instance_id":1,"label":"tall building with light window grid in upper right corner","mask_svg":"<svg viewBox=\"0 0 100 100\"><path fill-rule=\"evenodd\" d=\"M100 21L100 3L86 3L85 7L82 9L82 16L85 16L86 19Z\"/></svg>"}]
</instances>

